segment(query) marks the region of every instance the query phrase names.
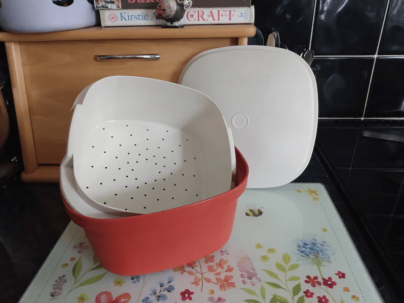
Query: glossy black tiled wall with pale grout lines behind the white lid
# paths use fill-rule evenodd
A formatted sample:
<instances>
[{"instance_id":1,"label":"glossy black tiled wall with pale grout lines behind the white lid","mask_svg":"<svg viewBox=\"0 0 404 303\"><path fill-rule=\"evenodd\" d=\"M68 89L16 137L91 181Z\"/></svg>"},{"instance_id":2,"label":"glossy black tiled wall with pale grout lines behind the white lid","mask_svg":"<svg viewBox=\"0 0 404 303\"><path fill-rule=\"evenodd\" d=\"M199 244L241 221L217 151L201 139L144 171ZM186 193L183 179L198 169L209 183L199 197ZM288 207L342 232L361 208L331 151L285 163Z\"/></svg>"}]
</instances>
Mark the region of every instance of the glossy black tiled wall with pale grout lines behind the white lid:
<instances>
[{"instance_id":1,"label":"glossy black tiled wall with pale grout lines behind the white lid","mask_svg":"<svg viewBox=\"0 0 404 303\"><path fill-rule=\"evenodd\" d=\"M314 50L322 118L404 118L404 2L252 0L264 39Z\"/></svg>"}]
</instances>

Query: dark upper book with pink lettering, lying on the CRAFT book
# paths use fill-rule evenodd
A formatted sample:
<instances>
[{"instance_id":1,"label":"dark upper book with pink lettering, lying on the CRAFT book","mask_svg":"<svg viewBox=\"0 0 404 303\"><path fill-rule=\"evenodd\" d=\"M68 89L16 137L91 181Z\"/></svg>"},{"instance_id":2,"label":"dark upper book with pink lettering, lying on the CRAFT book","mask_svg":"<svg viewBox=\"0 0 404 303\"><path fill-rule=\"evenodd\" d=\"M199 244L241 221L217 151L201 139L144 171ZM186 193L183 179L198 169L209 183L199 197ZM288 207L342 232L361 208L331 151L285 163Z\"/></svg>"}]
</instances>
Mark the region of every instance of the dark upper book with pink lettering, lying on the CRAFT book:
<instances>
[{"instance_id":1,"label":"dark upper book with pink lettering, lying on the CRAFT book","mask_svg":"<svg viewBox=\"0 0 404 303\"><path fill-rule=\"evenodd\" d=\"M156 9L162 0L94 0L96 10ZM251 0L197 0L198 8L249 7Z\"/></svg>"}]
</instances>

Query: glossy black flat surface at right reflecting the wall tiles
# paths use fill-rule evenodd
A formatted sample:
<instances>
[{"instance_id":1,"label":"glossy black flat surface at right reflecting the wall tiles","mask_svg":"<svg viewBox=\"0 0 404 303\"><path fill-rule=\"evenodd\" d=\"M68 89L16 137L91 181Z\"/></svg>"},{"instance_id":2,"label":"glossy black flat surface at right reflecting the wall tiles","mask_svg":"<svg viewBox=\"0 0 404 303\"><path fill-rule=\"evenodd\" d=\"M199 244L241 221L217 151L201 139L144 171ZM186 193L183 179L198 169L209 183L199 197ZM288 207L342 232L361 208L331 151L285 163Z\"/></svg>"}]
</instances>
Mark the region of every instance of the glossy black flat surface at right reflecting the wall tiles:
<instances>
[{"instance_id":1,"label":"glossy black flat surface at right reflecting the wall tiles","mask_svg":"<svg viewBox=\"0 0 404 303\"><path fill-rule=\"evenodd\" d=\"M316 144L404 281L404 121L322 119Z\"/></svg>"}]
</instances>

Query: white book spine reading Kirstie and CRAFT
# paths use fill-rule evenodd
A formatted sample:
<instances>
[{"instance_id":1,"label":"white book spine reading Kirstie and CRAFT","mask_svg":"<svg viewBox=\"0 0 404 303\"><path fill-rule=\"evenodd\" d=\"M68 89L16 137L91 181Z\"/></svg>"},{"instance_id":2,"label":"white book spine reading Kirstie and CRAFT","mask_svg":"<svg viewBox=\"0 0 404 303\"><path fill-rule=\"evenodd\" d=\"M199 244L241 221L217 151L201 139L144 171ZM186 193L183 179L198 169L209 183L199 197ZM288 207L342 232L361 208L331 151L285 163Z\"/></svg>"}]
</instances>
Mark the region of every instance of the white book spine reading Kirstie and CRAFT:
<instances>
[{"instance_id":1,"label":"white book spine reading Kirstie and CRAFT","mask_svg":"<svg viewBox=\"0 0 404 303\"><path fill-rule=\"evenodd\" d=\"M142 26L163 25L167 22L156 19L154 9L145 10L101 10L101 26ZM254 6L233 8L190 8L180 20L181 25L189 24L232 24L254 23Z\"/></svg>"}]
</instances>

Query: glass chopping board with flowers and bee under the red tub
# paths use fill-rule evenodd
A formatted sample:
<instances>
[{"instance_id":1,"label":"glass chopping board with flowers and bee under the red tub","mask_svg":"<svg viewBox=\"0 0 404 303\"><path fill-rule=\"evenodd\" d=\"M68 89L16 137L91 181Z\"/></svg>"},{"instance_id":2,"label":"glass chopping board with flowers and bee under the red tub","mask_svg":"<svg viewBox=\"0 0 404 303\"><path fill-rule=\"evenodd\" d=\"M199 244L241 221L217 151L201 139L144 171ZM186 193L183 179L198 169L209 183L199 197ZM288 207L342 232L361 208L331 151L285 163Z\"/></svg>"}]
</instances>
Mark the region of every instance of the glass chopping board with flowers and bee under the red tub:
<instances>
[{"instance_id":1,"label":"glass chopping board with flowers and bee under the red tub","mask_svg":"<svg viewBox=\"0 0 404 303\"><path fill-rule=\"evenodd\" d=\"M192 245L193 239L184 241ZM122 277L105 270L82 228L71 222L20 302L52 300L383 302L321 184L247 189L222 249L150 275Z\"/></svg>"}]
</instances>

